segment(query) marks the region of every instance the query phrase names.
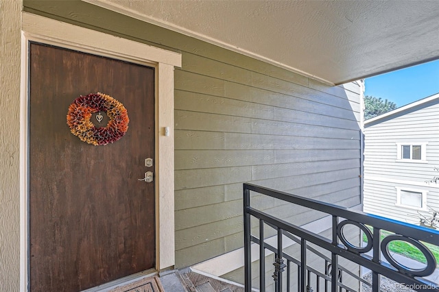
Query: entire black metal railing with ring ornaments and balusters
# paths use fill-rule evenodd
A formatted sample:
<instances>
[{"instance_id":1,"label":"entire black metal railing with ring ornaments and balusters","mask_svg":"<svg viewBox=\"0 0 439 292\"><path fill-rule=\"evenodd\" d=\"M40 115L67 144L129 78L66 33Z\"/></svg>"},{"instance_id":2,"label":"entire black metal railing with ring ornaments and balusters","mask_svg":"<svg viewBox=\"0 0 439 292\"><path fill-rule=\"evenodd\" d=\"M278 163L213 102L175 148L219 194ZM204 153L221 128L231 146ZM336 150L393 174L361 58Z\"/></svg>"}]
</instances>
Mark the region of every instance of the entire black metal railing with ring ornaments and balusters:
<instances>
[{"instance_id":1,"label":"entire black metal railing with ring ornaments and balusters","mask_svg":"<svg viewBox=\"0 0 439 292\"><path fill-rule=\"evenodd\" d=\"M317 210L329 216L331 219L331 239L295 226L283 219L270 215L264 210L258 210L251 205L252 195L266 195L280 199L285 204L291 203L298 206ZM250 219L259 221L259 238L252 235ZM266 243L264 227L275 230L274 237L276 246ZM344 231L346 226L356 226L366 236L365 245L351 243ZM370 231L370 226L372 232ZM381 230L391 232L390 235L381 239ZM360 233L360 232L358 232ZM283 241L289 239L300 247L299 258L294 258L284 252ZM358 237L359 241L360 238ZM392 242L405 241L416 247L425 257L426 264L422 269L407 267L392 256L389 247ZM439 232L412 224L394 221L383 217L369 215L364 212L348 210L333 204L318 202L270 188L244 184L244 252L245 252L245 289L252 291L252 254L251 245L259 245L259 289L265 291L270 286L265 283L265 258L266 252L274 254L274 291L292 291L293 287L300 292L318 291L359 291L361 284L369 286L372 292L380 291L380 275L391 279L398 286L409 287L415 291L439 291L439 284L427 280L436 270L436 258L425 243L439 245ZM311 246L312 245L312 246ZM326 256L324 250L330 256ZM324 267L317 269L307 263L309 253L316 255L324 261ZM385 260L381 260L381 254ZM296 256L297 257L297 256ZM341 258L340 258L341 257ZM345 259L349 263L355 263L359 267L365 267L372 273L372 280L368 282L361 278L359 272L353 272L339 263ZM286 264L285 264L286 263ZM335 268L334 268L335 267ZM285 271L286 268L286 271ZM296 268L296 275L293 270ZM344 277L356 279L357 287L350 288L344 284ZM355 282L355 281L354 281ZM285 283L285 284L284 284ZM396 289L395 289L396 290Z\"/></svg>"}]
</instances>

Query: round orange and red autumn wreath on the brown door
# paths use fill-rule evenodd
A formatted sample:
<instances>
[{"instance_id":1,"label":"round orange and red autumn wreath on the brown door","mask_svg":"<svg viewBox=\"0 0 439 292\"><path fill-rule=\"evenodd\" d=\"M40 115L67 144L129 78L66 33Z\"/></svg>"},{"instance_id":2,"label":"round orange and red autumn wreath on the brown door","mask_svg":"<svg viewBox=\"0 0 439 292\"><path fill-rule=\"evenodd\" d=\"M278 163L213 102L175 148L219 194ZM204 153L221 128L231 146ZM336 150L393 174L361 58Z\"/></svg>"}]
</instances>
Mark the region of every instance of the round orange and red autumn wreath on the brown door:
<instances>
[{"instance_id":1,"label":"round orange and red autumn wreath on the brown door","mask_svg":"<svg viewBox=\"0 0 439 292\"><path fill-rule=\"evenodd\" d=\"M106 112L106 127L96 127L90 119L96 112ZM67 125L73 135L92 145L107 145L118 141L128 130L128 112L116 99L103 93L78 97L69 107Z\"/></svg>"}]
</instances>

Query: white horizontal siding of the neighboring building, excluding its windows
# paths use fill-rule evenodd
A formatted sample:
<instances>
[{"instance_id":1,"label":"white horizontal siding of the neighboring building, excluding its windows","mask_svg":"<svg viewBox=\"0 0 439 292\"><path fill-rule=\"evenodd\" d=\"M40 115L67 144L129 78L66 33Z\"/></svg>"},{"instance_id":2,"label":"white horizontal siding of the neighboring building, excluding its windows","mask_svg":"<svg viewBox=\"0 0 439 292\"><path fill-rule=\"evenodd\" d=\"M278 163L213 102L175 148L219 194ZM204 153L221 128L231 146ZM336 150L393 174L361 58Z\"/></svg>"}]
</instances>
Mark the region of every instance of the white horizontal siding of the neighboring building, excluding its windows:
<instances>
[{"instance_id":1,"label":"white horizontal siding of the neighboring building, excluding its windows","mask_svg":"<svg viewBox=\"0 0 439 292\"><path fill-rule=\"evenodd\" d=\"M422 106L365 125L364 211L392 219L418 223L418 210L395 206L396 188L427 191L427 205L439 210L439 188L427 184L439 167L439 103ZM426 162L397 159L396 143L427 143ZM422 215L427 212L419 211Z\"/></svg>"}]
</instances>

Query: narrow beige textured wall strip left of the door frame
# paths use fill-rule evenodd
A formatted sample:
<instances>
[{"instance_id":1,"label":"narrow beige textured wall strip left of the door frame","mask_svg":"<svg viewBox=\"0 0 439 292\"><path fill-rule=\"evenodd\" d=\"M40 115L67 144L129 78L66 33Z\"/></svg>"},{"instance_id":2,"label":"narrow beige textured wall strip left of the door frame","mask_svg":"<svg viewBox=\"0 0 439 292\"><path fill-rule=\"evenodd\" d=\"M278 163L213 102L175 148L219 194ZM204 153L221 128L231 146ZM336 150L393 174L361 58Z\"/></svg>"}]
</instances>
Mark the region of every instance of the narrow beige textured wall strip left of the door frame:
<instances>
[{"instance_id":1,"label":"narrow beige textured wall strip left of the door frame","mask_svg":"<svg viewBox=\"0 0 439 292\"><path fill-rule=\"evenodd\" d=\"M19 291L20 0L0 1L0 286Z\"/></svg>"}]
</instances>

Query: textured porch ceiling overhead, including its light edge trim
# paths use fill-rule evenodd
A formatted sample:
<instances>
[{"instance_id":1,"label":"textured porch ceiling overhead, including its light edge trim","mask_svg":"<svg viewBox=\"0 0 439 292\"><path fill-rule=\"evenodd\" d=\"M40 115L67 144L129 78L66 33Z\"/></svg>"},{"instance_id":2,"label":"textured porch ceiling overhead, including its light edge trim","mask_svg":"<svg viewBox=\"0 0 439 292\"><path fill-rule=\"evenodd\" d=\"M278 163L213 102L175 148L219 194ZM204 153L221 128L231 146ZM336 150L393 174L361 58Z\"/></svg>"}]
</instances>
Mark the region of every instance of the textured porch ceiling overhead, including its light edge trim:
<instances>
[{"instance_id":1,"label":"textured porch ceiling overhead, including its light edge trim","mask_svg":"<svg viewBox=\"0 0 439 292\"><path fill-rule=\"evenodd\" d=\"M84 0L329 84L439 58L439 1Z\"/></svg>"}]
</instances>

